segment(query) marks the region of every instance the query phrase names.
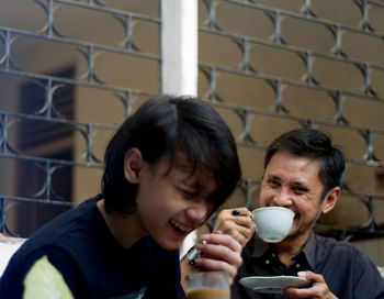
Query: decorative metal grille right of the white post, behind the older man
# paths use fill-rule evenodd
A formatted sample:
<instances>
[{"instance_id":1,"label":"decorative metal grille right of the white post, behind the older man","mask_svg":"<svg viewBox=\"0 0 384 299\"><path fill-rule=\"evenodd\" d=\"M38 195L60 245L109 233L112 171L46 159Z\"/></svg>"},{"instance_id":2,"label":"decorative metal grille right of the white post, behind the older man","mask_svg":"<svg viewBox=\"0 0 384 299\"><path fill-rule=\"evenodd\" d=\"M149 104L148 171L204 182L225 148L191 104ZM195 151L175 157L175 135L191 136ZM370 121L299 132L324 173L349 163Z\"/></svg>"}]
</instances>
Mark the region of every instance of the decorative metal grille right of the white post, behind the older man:
<instances>
[{"instance_id":1,"label":"decorative metal grille right of the white post, behind the older man","mask_svg":"<svg viewBox=\"0 0 384 299\"><path fill-rule=\"evenodd\" d=\"M234 131L238 133L240 148L256 150L249 154L255 155L255 160L259 159L253 167L259 166L262 169L262 155L257 158L257 152L263 151L271 141L270 137L260 139L258 132L260 130L266 134L271 132L273 139L290 128L309 125L330 132L336 144L345 142L342 147L347 150L348 168L343 180L343 197L352 199L343 202L341 207L348 208L352 204L353 198L358 199L366 208L366 219L360 226L354 223L350 226L319 224L318 230L338 239L383 236L384 220L380 213L380 209L383 209L383 190L374 188L364 190L361 188L364 184L349 186L348 182L350 176L353 176L352 171L369 167L380 173L384 166L383 156L380 157L384 139L384 90L380 84L384 78L383 55L369 56L366 53L353 52L353 48L348 46L348 38L351 38L351 35L359 35L355 38L359 37L360 43L369 38L370 46L376 47L375 51L383 49L384 23L380 19L384 15L384 3L369 0L342 1L346 11L353 11L355 8L360 12L360 18L355 16L355 24L345 24L338 20L323 18L321 12L317 12L324 7L328 10L335 9L335 2L326 4L310 0L283 2L252 0L200 2L204 8L200 25L200 51L203 56L200 62L200 81L205 82L201 93L217 108L226 110L226 115L233 111L239 118L240 124ZM276 7L271 7L273 4ZM287 9L281 8L285 5ZM370 13L375 13L375 16L370 18ZM262 27L258 27L258 24L262 24ZM305 36L305 33L309 35ZM316 38L325 41L326 45L316 44ZM230 56L217 57L224 47L230 48L228 51ZM202 54L208 48L212 55ZM262 63L263 58L271 59L273 53L278 53L276 59L278 56L284 57L281 59L281 66L275 66L273 60L269 60L270 65L267 66ZM292 62L283 62L286 58ZM340 66L343 71L338 69ZM290 67L295 71L284 69ZM326 76L319 68L323 68ZM327 78L329 76L327 68L329 71L339 71L340 76L358 84L353 86L341 80L330 81ZM329 77L337 78L337 76ZM236 85L240 81L246 82L237 88ZM251 92L245 93L241 90L246 85L252 84L257 87ZM231 88L236 91L230 91ZM295 91L293 92L295 104L292 103L292 90ZM303 90L305 92L302 92ZM242 102L246 104L241 104L239 98L244 98ZM346 112L348 104L355 99L361 102L361 110L354 114L349 110ZM268 103L262 108L260 102L266 101ZM375 115L372 110L364 111L364 107L371 103L377 109ZM307 114L298 109L308 104L314 109L306 109L309 112ZM316 110L321 110L321 107L327 107L329 112L327 114L317 112ZM371 123L359 120L359 115L364 113L372 118ZM351 151L348 151L353 144L349 144L348 139L343 141L343 134L354 134L354 141L359 139L363 141L364 152L360 156L353 156ZM246 164L249 165L249 159ZM353 169L352 166L360 168ZM246 177L244 181L246 204L251 209L258 206L260 177L259 173L258 176ZM374 177L371 179L374 180ZM360 214L364 214L364 208L357 209ZM379 221L382 224L379 224ZM342 220L340 223L342 224Z\"/></svg>"}]
</instances>

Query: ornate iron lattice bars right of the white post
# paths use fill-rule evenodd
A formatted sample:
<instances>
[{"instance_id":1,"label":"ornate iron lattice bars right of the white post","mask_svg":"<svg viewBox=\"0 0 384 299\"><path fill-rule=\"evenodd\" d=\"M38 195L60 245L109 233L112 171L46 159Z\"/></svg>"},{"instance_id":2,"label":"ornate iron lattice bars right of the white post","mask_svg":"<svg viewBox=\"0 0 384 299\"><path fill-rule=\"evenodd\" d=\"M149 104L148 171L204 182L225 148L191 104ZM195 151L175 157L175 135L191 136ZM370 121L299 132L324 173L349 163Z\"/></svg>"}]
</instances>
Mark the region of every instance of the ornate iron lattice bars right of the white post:
<instances>
[{"instance_id":1,"label":"ornate iron lattice bars right of the white post","mask_svg":"<svg viewBox=\"0 0 384 299\"><path fill-rule=\"evenodd\" d=\"M260 4L260 2L263 2L263 4ZM317 13L318 5L314 5L315 1L296 1L296 10L284 10L280 9L279 7L272 8L269 5L273 5L273 3L269 2L252 0L201 1L201 5L203 5L205 9L205 19L201 21L200 34L208 35L210 38L207 37L206 41L210 41L212 38L215 38L215 41L218 43L221 43L221 41L225 41L223 44L225 43L228 47L235 45L234 47L237 47L239 52L237 59L230 62L230 66L225 62L225 59L219 62L218 59L212 58L210 56L204 56L204 60L200 62L200 70L202 77L201 80L205 79L206 81L205 89L202 91L204 97L216 107L219 107L224 110L233 110L240 119L241 125L239 125L240 129L238 129L239 147L248 147L256 151L263 151L267 147L268 143L258 141L257 137L253 136L255 130L253 134L251 132L252 121L255 121L255 119L269 119L268 121L263 122L262 130L266 131L268 131L270 126L273 126L274 121L284 119L292 122L293 126L315 126L320 128L327 132L342 129L359 134L360 137L364 141L365 151L361 157L352 157L347 154L348 165L373 167L376 168L377 171L380 171L380 169L383 169L383 160L376 155L380 151L382 151L382 147L379 146L379 144L374 145L373 141L374 139L383 139L384 130L383 126L380 126L382 124L377 123L376 128L357 125L354 121L349 120L349 117L345 112L346 101L351 98L357 98L362 102L377 103L376 107L381 110L379 119L382 118L384 112L384 92L381 88L379 88L381 90L376 90L375 87L373 87L372 78L374 77L373 74L375 74L375 76L380 74L379 77L384 75L384 66L382 59L383 57L382 55L379 55L380 59L377 60L363 60L359 57L355 57L357 55L353 55L353 53L349 53L350 51L346 51L345 47L347 46L345 46L343 43L345 34L350 33L359 34L361 36L369 36L370 38L374 40L375 43L383 44L383 27L376 29L373 24L371 24L369 14L370 11L382 9L383 2L365 0L350 1L350 5L354 5L360 12L360 19L355 25L343 24L337 21L321 18L319 13ZM289 2L293 3L294 1ZM278 3L275 5L283 4ZM331 3L328 3L328 7L331 5ZM350 7L348 9L350 9ZM269 35L266 34L261 37L251 36L249 35L249 31L241 31L240 26L230 27L227 25L226 21L231 18L235 19L234 14L236 14L236 12L238 13L236 19L237 22L241 22L241 18L247 18L245 14L239 16L239 14L241 12L244 13L246 10L252 11L255 13L253 19L264 16L269 20ZM383 12L384 11L382 10L381 13ZM383 16L383 14L381 15ZM286 38L283 32L284 29L290 25L289 22L292 20L306 24L315 24L316 26L323 27L324 31L328 31L330 33L330 37L328 40L332 41L329 48L327 51L308 48L297 43L295 44L294 38L291 38L292 41L290 41L290 38ZM201 40L203 40L204 43L204 38L202 37ZM223 44L219 46L223 47ZM252 48L258 46L266 48L264 52L262 52L263 54L266 54L268 51L278 49L280 53L285 53L297 57L297 63L301 64L301 66L297 67L301 69L301 76L297 78L292 78L290 76L284 77L273 75L269 73L268 68L260 70L255 63L255 57L251 57ZM208 45L208 42L206 42L206 44L202 47L212 47L212 44ZM348 89L337 85L332 86L330 84L323 82L320 79L317 79L315 64L318 60L326 62L329 65L342 63L349 67L357 69L362 77L360 90ZM228 75L234 78L236 76L241 76L241 78L245 78L247 80L252 79L255 81L263 81L267 86L269 86L272 90L271 98L273 99L271 100L271 104L268 107L268 109L258 109L253 107L251 100L247 102L248 107L239 106L235 96L228 92L227 89L223 88L223 85L230 84L230 81L226 81L224 79L224 82L222 86L219 86L221 78ZM316 118L309 115L301 115L294 111L291 111L287 104L285 104L286 99L284 93L284 91L290 87L305 88L321 92L334 103L334 114L329 119L324 119L318 117ZM376 87L379 86L376 85ZM259 92L261 93L262 91L260 90ZM257 101L257 99L260 99L260 97L258 97L258 93L253 93L253 96L255 101ZM297 97L300 98L301 96L297 95ZM316 104L320 107L321 102L317 101ZM278 132L282 133L286 130L286 128L282 128L281 130L282 131ZM338 140L335 140L335 142L337 143ZM259 165L261 166L261 163ZM242 193L245 196L246 206L250 209L253 209L258 206L257 192L259 190L259 186L260 180L258 178L248 178L244 181ZM317 225L318 232L343 240L359 240L365 237L383 236L384 222L382 217L380 217L380 209L382 209L383 206L379 206L382 204L382 200L384 199L383 192L364 192L359 188L350 187L348 185L348 179L346 178L343 181L343 196L358 199L360 203L366 208L366 221L359 226L335 226L329 225L329 223L324 221L319 222ZM348 206L348 202L345 204ZM364 210L364 208L362 210ZM379 221L381 221L381 224L377 223L377 217L380 217Z\"/></svg>"}]
</instances>

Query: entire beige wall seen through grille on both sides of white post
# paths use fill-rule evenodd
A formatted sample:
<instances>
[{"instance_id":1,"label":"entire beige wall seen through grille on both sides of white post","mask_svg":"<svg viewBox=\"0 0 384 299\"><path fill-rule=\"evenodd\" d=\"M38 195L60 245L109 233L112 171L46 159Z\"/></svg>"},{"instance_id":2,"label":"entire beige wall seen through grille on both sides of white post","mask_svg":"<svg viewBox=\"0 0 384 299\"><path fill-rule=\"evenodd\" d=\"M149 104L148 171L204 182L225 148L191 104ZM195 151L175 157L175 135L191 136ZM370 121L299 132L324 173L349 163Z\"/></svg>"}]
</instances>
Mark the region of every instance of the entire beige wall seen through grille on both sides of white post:
<instances>
[{"instance_id":1,"label":"entire beige wall seen through grille on both sides of white post","mask_svg":"<svg viewBox=\"0 0 384 299\"><path fill-rule=\"evenodd\" d=\"M5 1L7 2L7 1ZM13 8L15 2L8 0L7 9ZM204 25L207 18L203 1L200 1L200 24ZM30 2L29 2L30 3ZM270 5L287 11L298 12L303 1L258 1L259 4ZM349 25L357 25L360 21L360 14L352 1L340 0L317 0L312 1L314 9L320 18L342 22ZM122 5L121 1L110 1L111 7ZM143 2L129 1L123 3L124 9L134 10L139 13L157 15L157 1ZM36 4L24 7L31 12L33 18L25 27L38 29L44 19L41 9ZM0 7L0 10L3 8ZM35 12L35 13L32 13ZM375 10L370 12L372 23L384 31L384 13ZM246 10L234 4L221 4L217 8L217 22L226 31L239 35L247 35L252 38L270 41L273 34L273 26L266 14L258 10ZM19 19L20 20L20 19ZM70 22L68 22L70 20ZM15 19L11 19L8 26L18 26ZM100 13L87 10L63 9L58 10L56 19L57 27L71 38L86 41L97 44L115 45L122 41L124 33L118 22L113 18L105 18ZM305 47L315 52L329 53L334 46L334 37L330 32L321 25L305 22L303 20L287 19L282 23L282 34L292 45ZM137 24L135 31L135 42L147 53L158 53L158 27L150 24ZM382 53L384 44L377 43L373 38L361 36L359 34L346 33L343 36L343 51L354 59L370 60L383 64ZM241 65L241 52L239 47L228 37L223 37L210 33L200 33L200 62L203 64L214 64L222 67L235 68ZM20 43L15 47L15 60L27 71L34 74L49 74L61 67L74 65L76 74L80 77L87 69L83 56L70 45L59 43ZM269 76L279 76L290 80L303 80L305 67L303 60L293 52L274 48L266 45L255 44L250 48L250 63L258 74ZM329 59L318 58L313 64L315 78L323 86L339 88L360 92L363 87L363 77L361 73L350 64L330 63ZM100 79L108 86L132 88L135 90L145 90L156 93L159 90L159 64L155 60L144 59L129 55L100 53L95 58L95 71ZM383 97L384 87L381 84L384 79L384 71L373 71L372 86ZM15 99L18 95L16 84L19 80L11 80L1 76L0 95L1 98ZM84 81L84 80L82 80ZM7 87L7 88L4 88ZM207 98L208 81L202 73L199 78L199 95ZM242 106L255 111L274 111L274 93L271 86L263 79L251 76L221 73L217 78L218 95L226 103ZM145 97L133 97L133 109L135 109ZM321 90L286 86L283 89L284 104L289 111L296 117L310 117L325 121L334 121L336 108L331 98ZM12 100L8 106L0 103L0 108L5 111L16 111L16 102ZM345 115L352 125L370 126L384 130L384 104L380 101L366 101L361 98L346 97L343 99ZM89 122L92 124L117 125L125 118L125 111L120 100L109 90L90 88L84 86L76 87L76 115L75 120L79 122ZM217 108L231 128L235 136L240 141L244 136L244 126L239 117L234 110L227 108ZM295 120L270 115L268 113L251 113L249 133L259 145L268 145L280 133L298 128ZM82 126L80 126L82 128ZM339 144L349 158L361 158L365 153L365 145L362 136L357 131L350 131L342 128L318 125L319 129L330 132L336 144ZM82 128L84 129L84 128ZM102 159L105 145L111 137L112 130L93 128L92 129L92 148L94 155ZM384 136L374 135L375 154L384 159ZM86 140L79 133L75 133L75 159L86 162L83 153L86 152ZM244 177L246 179L259 180L262 175L263 151L260 148L239 146ZM94 164L92 162L92 164ZM383 169L381 169L383 170ZM12 173L12 167L7 169L7 174ZM359 192L384 195L384 188L376 180L377 167L349 165L346 171L346 182ZM75 167L74 177L74 201L80 202L83 199L100 191L100 179L102 170L95 167ZM8 186L16 184L12 176L5 176L4 170L0 170L0 176L4 179L0 182ZM12 178L12 179L10 179ZM239 190L235 192L226 207L235 207L244 203L244 193ZM252 206L258 204L257 188L252 196ZM376 201L376 220L384 223L384 201ZM336 225L361 225L368 220L368 212L361 200L357 198L343 197L339 204L324 220ZM382 250L382 240L371 241L359 246L363 246L371 257L377 264L384 265L384 254Z\"/></svg>"}]
</instances>

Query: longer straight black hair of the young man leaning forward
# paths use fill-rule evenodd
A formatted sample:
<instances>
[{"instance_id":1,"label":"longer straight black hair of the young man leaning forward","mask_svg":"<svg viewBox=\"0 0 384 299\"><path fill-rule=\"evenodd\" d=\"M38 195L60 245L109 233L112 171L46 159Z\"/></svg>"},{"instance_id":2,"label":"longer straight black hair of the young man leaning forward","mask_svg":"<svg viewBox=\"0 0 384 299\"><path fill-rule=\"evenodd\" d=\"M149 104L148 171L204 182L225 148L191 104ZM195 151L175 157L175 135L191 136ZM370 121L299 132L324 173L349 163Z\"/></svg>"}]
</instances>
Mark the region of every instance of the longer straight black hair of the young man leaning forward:
<instances>
[{"instance_id":1,"label":"longer straight black hair of the young man leaning forward","mask_svg":"<svg viewBox=\"0 0 384 299\"><path fill-rule=\"evenodd\" d=\"M153 166L166 156L170 166L178 167L176 154L181 152L191 163L192 174L212 174L216 188L208 198L215 202L214 210L235 190L241 176L235 140L207 102L196 97L149 99L124 121L106 147L102 196L108 212L131 213L135 209L137 186L124 176L125 154L133 147Z\"/></svg>"}]
</instances>

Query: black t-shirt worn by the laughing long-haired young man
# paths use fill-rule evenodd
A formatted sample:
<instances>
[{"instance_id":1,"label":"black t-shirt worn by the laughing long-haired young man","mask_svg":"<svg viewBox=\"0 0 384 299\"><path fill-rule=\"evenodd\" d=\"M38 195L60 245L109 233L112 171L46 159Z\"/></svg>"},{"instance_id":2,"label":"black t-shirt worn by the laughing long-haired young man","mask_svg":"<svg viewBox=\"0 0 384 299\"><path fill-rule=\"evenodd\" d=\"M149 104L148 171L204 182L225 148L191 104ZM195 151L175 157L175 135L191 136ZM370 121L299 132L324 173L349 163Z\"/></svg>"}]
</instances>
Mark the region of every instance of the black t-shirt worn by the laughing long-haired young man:
<instances>
[{"instance_id":1,"label":"black t-shirt worn by the laughing long-haired young man","mask_svg":"<svg viewBox=\"0 0 384 299\"><path fill-rule=\"evenodd\" d=\"M150 236L123 248L110 233L97 201L89 199L32 235L12 256L0 280L1 298L22 298L31 266L46 255L76 298L185 298L179 251Z\"/></svg>"}]
</instances>

